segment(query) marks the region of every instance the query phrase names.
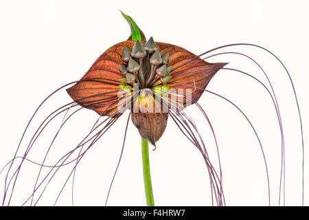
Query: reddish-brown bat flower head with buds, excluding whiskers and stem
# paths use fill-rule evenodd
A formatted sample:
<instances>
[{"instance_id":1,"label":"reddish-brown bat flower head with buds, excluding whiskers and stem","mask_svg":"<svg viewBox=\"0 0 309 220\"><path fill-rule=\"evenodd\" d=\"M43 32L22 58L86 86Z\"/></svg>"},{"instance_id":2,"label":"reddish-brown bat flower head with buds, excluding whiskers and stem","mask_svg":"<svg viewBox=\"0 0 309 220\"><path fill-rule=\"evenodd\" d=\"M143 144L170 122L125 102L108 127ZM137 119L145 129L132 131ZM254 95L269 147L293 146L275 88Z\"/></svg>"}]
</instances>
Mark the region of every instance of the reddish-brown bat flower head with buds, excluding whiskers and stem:
<instances>
[{"instance_id":1,"label":"reddish-brown bat flower head with buds, excluding whiskers and stem","mask_svg":"<svg viewBox=\"0 0 309 220\"><path fill-rule=\"evenodd\" d=\"M130 17L140 39L131 34L93 63L89 71L67 92L82 107L100 115L117 117L131 113L141 137L151 144L163 135L170 111L194 104L209 80L227 63L207 63L169 43L145 41Z\"/></svg>"}]
</instances>

